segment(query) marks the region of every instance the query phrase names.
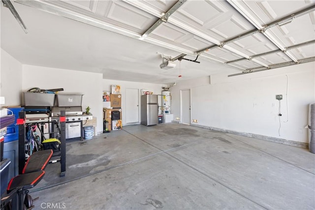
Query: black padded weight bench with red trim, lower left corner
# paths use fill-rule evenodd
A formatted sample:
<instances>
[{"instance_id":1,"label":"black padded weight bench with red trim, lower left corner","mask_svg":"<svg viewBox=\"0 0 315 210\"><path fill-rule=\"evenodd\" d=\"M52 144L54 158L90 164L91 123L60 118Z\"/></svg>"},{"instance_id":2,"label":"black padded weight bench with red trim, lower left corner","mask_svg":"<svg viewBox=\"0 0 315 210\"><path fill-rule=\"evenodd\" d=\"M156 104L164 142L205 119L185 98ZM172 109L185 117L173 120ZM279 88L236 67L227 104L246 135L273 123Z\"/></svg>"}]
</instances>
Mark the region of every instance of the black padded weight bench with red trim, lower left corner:
<instances>
[{"instance_id":1,"label":"black padded weight bench with red trim, lower left corner","mask_svg":"<svg viewBox=\"0 0 315 210\"><path fill-rule=\"evenodd\" d=\"M9 181L6 193L1 196L1 210L24 210L33 208L32 202L36 199L28 194L32 187L36 186L45 175L46 168L53 150L41 150L34 152L26 162L22 174Z\"/></svg>"}]
</instances>

